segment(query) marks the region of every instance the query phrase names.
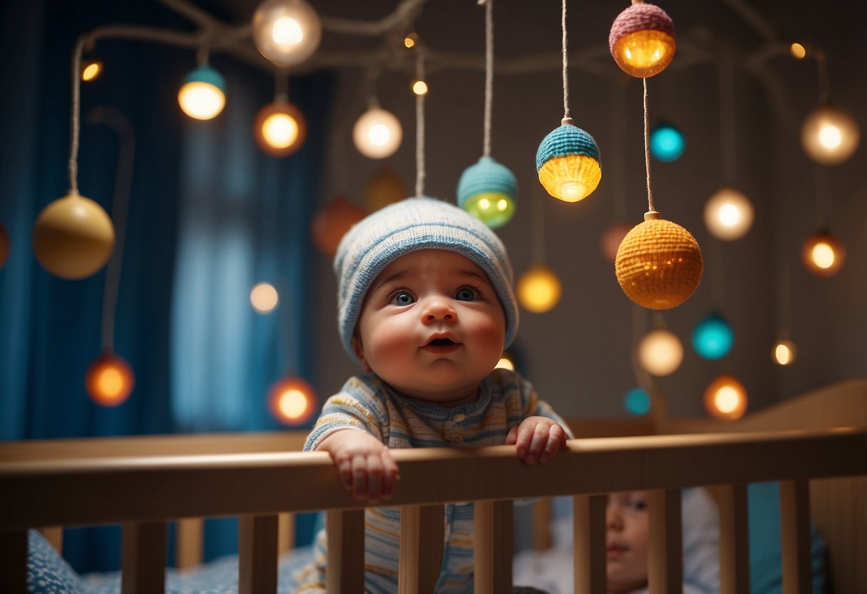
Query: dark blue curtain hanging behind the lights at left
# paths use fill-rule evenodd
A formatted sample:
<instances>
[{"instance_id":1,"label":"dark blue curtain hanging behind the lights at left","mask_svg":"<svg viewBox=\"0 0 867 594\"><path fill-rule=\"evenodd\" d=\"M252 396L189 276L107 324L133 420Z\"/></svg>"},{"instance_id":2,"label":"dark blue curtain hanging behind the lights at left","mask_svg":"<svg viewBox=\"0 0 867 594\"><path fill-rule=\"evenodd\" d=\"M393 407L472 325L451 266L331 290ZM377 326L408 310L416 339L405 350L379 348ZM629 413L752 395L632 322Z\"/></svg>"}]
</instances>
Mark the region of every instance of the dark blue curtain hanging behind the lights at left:
<instances>
[{"instance_id":1,"label":"dark blue curtain hanging behind the lights at left","mask_svg":"<svg viewBox=\"0 0 867 594\"><path fill-rule=\"evenodd\" d=\"M176 100L179 81L195 67L192 50L96 44L106 72L82 86L82 116L96 106L123 113L136 155L114 332L114 350L132 365L136 384L127 402L107 409L83 384L101 351L105 269L64 281L29 246L36 216L68 190L75 40L107 23L190 29L153 2L0 6L10 48L0 57L8 76L0 85L0 224L11 243L0 268L0 439L277 429L264 405L268 386L286 372L312 371L310 349L301 346L312 335L303 311L332 77L290 80L290 100L310 133L300 152L272 158L251 136L257 109L273 99L270 74L212 55L227 104L217 119L193 122ZM119 142L110 127L82 119L79 189L109 214ZM252 311L257 281L280 290L274 313ZM206 554L233 550L234 530L209 530ZM116 529L70 530L65 538L78 571L119 564Z\"/></svg>"}]
</instances>

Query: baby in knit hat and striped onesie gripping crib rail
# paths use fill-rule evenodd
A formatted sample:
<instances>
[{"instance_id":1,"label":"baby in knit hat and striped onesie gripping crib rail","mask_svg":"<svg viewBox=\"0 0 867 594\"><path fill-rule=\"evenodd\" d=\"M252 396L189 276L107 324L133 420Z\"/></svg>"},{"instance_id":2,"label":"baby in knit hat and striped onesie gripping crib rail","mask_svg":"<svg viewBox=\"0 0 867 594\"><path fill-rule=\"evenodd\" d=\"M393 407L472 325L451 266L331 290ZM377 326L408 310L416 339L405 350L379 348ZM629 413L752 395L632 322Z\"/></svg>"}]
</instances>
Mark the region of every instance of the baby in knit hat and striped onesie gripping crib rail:
<instances>
[{"instance_id":1,"label":"baby in knit hat and striped onesie gripping crib rail","mask_svg":"<svg viewBox=\"0 0 867 594\"><path fill-rule=\"evenodd\" d=\"M329 452L358 500L388 500L395 448L515 445L545 463L571 437L513 371L494 369L518 331L512 266L499 237L432 198L407 198L349 230L337 249L338 328L366 371L323 405L305 450ZM473 591L473 505L445 513L437 591ZM365 590L397 591L400 510L368 508ZM299 592L322 591L326 543Z\"/></svg>"}]
</instances>

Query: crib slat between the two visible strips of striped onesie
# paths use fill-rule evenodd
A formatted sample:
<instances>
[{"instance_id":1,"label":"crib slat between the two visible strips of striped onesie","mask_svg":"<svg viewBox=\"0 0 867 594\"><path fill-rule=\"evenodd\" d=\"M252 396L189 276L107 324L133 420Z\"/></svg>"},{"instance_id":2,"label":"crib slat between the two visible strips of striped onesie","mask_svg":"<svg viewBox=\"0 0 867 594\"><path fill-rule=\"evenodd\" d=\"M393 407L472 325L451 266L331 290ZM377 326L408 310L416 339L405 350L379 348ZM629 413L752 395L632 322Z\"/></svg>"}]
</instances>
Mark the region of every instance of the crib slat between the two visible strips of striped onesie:
<instances>
[{"instance_id":1,"label":"crib slat between the two visible strips of striped onesie","mask_svg":"<svg viewBox=\"0 0 867 594\"><path fill-rule=\"evenodd\" d=\"M401 507L400 594L433 592L440 578L445 506Z\"/></svg>"}]
</instances>

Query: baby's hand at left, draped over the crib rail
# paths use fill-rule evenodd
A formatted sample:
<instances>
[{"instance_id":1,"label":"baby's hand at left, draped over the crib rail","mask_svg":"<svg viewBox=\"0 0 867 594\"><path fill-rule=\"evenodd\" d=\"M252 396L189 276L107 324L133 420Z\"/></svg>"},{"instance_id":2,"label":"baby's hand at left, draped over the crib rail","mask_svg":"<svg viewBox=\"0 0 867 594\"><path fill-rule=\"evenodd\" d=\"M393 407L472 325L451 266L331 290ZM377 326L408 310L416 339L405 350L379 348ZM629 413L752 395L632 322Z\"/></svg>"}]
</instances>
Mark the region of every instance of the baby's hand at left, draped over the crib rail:
<instances>
[{"instance_id":1,"label":"baby's hand at left, draped over the crib rail","mask_svg":"<svg viewBox=\"0 0 867 594\"><path fill-rule=\"evenodd\" d=\"M327 451L337 465L340 480L355 499L376 503L389 499L400 479L388 447L374 436L355 429L332 433L316 449Z\"/></svg>"}]
</instances>

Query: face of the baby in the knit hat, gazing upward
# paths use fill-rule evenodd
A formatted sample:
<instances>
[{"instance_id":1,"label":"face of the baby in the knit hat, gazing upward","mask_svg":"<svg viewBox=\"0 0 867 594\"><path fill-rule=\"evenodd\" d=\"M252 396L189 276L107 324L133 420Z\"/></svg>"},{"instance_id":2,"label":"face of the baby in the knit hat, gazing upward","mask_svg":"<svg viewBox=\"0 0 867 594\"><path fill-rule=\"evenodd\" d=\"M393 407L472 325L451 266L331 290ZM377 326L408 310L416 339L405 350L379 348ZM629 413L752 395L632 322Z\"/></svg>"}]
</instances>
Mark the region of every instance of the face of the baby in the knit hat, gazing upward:
<instances>
[{"instance_id":1,"label":"face of the baby in the knit hat, gazing upward","mask_svg":"<svg viewBox=\"0 0 867 594\"><path fill-rule=\"evenodd\" d=\"M442 249L403 255L368 290L355 351L408 397L473 402L503 352L505 313L486 274Z\"/></svg>"}]
</instances>

